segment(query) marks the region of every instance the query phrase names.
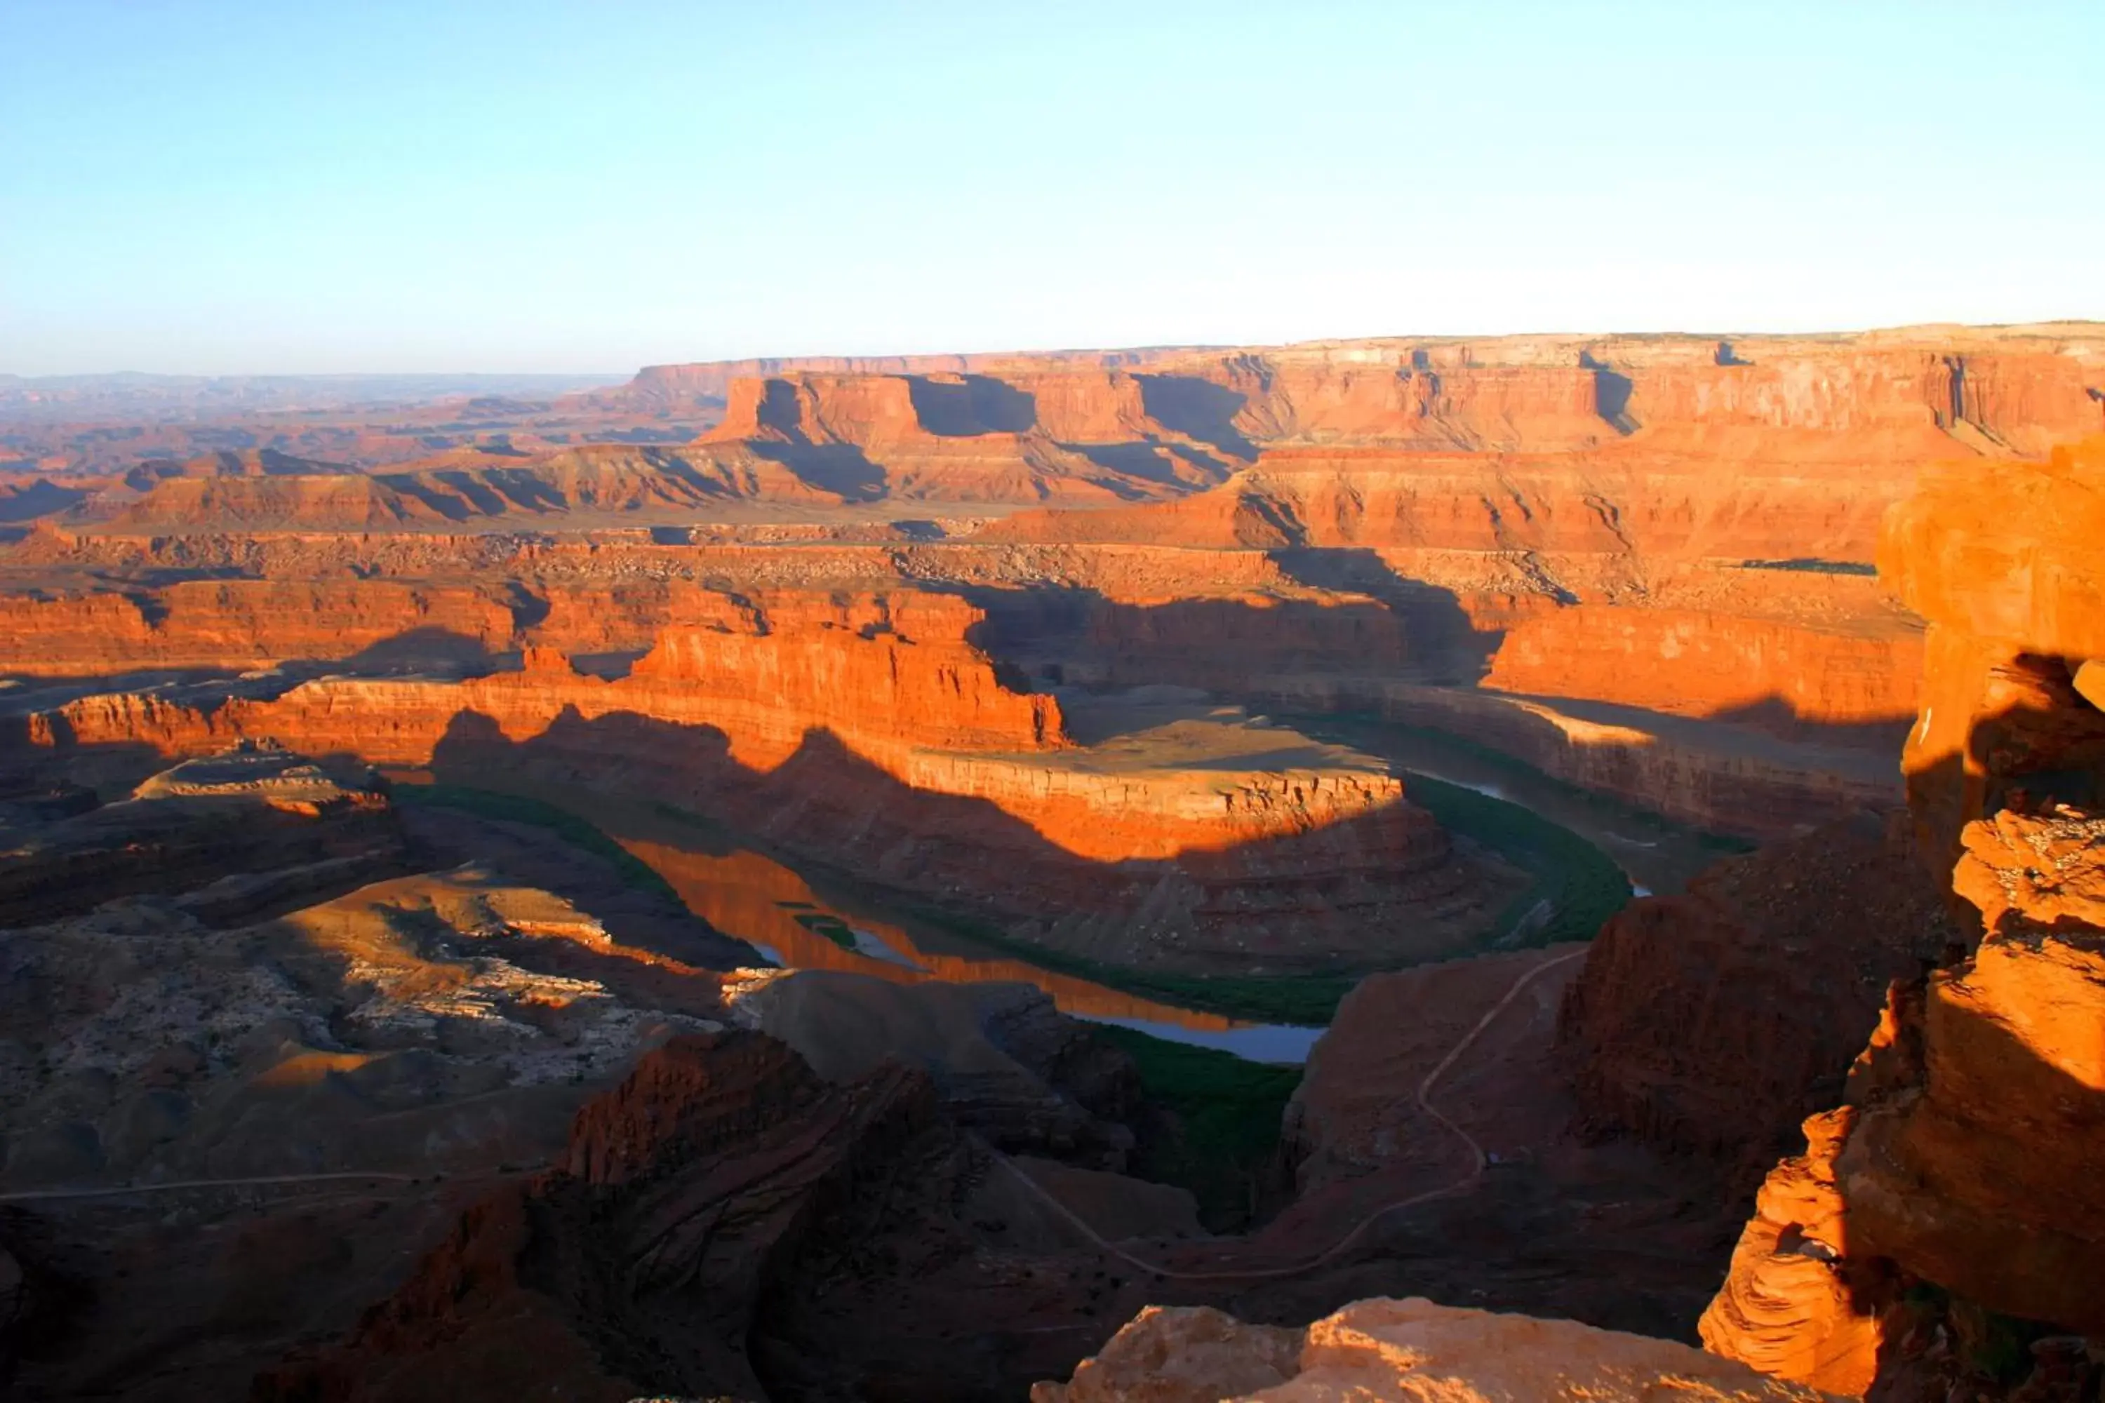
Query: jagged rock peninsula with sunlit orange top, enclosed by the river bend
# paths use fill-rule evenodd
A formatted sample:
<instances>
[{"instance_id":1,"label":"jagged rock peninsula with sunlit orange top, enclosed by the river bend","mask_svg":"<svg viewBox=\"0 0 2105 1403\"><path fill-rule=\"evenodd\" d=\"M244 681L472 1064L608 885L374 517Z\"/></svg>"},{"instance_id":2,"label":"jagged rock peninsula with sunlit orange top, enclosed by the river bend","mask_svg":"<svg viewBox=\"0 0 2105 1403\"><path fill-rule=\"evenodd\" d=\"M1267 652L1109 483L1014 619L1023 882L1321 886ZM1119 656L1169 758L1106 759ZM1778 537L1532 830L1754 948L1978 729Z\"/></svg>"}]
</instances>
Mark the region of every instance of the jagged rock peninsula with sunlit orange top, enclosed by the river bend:
<instances>
[{"instance_id":1,"label":"jagged rock peninsula with sunlit orange top, enclosed by the river bend","mask_svg":"<svg viewBox=\"0 0 2105 1403\"><path fill-rule=\"evenodd\" d=\"M1078 747L1052 696L996 679L966 642L981 614L954 595L726 604L613 682L526 648L520 671L461 682L103 692L21 717L17 745L269 738L482 787L613 789L1116 963L1372 963L1465 944L1509 896L1364 755L1280 730Z\"/></svg>"}]
</instances>

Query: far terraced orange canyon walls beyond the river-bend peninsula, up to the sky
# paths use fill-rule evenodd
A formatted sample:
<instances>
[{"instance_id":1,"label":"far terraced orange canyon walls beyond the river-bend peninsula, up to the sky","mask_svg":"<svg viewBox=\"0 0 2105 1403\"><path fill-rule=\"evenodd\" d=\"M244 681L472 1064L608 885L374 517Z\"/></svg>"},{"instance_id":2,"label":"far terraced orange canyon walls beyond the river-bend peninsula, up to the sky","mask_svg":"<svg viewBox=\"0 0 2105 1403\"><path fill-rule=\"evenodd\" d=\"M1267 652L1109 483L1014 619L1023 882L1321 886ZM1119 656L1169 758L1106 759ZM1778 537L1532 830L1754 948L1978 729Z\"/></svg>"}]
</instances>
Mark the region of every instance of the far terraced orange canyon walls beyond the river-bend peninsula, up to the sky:
<instances>
[{"instance_id":1,"label":"far terraced orange canyon walls beyond the river-bend peninsula, up to the sky","mask_svg":"<svg viewBox=\"0 0 2105 1403\"><path fill-rule=\"evenodd\" d=\"M733 597L918 587L983 604L1013 682L1379 711L1789 835L1890 799L1867 759L1945 646L1852 574L1882 511L1924 465L2082 427L2101 366L2086 328L2038 326L665 370L667 395L722 385L697 442L385 473L253 452L91 492L78 530L6 547L0 669L554 648L617 677L661 629L737 635ZM2054 686L2019 671L1998 686Z\"/></svg>"}]
</instances>

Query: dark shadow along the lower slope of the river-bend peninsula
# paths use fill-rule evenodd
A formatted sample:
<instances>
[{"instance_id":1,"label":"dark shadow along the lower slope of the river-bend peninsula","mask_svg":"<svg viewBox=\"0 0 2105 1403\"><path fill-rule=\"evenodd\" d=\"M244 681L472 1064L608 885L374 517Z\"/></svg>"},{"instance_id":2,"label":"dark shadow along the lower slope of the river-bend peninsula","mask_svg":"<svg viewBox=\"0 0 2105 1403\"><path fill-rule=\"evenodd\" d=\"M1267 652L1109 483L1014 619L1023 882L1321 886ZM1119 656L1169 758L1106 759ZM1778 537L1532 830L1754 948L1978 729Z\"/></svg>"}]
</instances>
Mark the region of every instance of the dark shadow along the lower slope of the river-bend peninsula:
<instances>
[{"instance_id":1,"label":"dark shadow along the lower slope of the river-bend peninsula","mask_svg":"<svg viewBox=\"0 0 2105 1403\"><path fill-rule=\"evenodd\" d=\"M789 759L760 772L741 766L714 726L627 711L587 721L566 709L514 743L490 717L463 711L434 749L432 772L461 785L503 774L657 799L996 928L1055 909L1124 919L1164 881L1198 883L1208 892L1194 909L1210 928L1206 944L1227 949L1221 932L1236 932L1248 951L1225 959L1221 974L1242 972L1248 957L1280 970L1379 965L1375 947L1343 955L1375 934L1364 921L1377 909L1431 909L1467 879L1444 835L1410 806L1236 848L1105 865L987 799L903 785L825 730L806 732Z\"/></svg>"}]
</instances>

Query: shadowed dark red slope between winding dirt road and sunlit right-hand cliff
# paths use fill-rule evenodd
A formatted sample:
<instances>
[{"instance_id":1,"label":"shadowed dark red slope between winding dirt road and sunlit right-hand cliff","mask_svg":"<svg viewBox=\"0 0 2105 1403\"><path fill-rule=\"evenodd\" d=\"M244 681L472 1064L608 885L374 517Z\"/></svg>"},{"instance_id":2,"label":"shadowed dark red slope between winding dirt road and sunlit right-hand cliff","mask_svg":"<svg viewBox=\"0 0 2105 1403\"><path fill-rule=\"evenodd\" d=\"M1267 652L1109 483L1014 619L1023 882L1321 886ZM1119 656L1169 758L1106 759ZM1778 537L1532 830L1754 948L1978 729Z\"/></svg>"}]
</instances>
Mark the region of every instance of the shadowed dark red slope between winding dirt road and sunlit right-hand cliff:
<instances>
[{"instance_id":1,"label":"shadowed dark red slope between winding dirt road and sunlit right-hand cliff","mask_svg":"<svg viewBox=\"0 0 2105 1403\"><path fill-rule=\"evenodd\" d=\"M1863 814L1625 907L1558 1043L1596 1130L1711 1159L1747 1193L1840 1098L1886 987L1956 938L1905 812Z\"/></svg>"}]
</instances>

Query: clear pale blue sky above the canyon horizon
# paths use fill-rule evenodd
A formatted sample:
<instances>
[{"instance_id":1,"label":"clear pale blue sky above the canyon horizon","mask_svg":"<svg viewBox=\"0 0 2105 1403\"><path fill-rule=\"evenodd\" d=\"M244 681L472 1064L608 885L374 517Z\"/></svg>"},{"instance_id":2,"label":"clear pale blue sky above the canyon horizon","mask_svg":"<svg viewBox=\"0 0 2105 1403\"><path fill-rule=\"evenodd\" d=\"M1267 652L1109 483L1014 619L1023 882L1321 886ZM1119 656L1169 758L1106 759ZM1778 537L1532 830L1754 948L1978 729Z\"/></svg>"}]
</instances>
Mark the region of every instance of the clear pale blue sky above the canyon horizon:
<instances>
[{"instance_id":1,"label":"clear pale blue sky above the canyon horizon","mask_svg":"<svg viewBox=\"0 0 2105 1403\"><path fill-rule=\"evenodd\" d=\"M0 372L2105 318L2105 0L0 0Z\"/></svg>"}]
</instances>

